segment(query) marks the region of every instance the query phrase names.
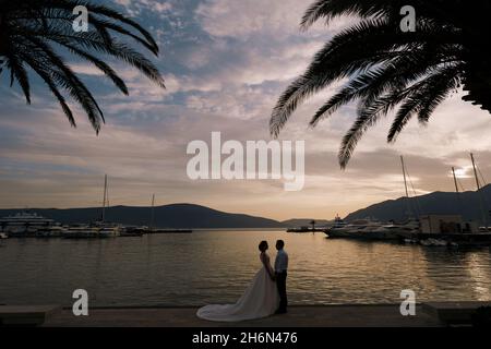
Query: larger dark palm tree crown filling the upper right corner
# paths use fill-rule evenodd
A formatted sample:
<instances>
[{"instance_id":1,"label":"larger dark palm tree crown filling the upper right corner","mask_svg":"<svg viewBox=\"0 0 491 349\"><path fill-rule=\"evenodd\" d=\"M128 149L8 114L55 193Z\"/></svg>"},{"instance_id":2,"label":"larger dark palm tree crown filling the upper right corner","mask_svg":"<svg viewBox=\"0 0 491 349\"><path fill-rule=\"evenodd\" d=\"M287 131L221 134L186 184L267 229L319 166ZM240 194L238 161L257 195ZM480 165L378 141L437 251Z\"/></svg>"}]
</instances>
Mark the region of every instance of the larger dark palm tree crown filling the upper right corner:
<instances>
[{"instance_id":1,"label":"larger dark palm tree crown filling the upper right corner","mask_svg":"<svg viewBox=\"0 0 491 349\"><path fill-rule=\"evenodd\" d=\"M395 112L387 142L417 116L426 124L434 109L462 87L464 100L491 111L490 1L415 0L416 32L400 29L400 0L319 0L303 15L301 27L323 19L358 15L315 55L307 71L279 97L272 112L274 136L297 107L328 85L348 82L315 112L315 127L339 107L358 101L357 118L338 153L345 168L357 142L382 116Z\"/></svg>"}]
</instances>

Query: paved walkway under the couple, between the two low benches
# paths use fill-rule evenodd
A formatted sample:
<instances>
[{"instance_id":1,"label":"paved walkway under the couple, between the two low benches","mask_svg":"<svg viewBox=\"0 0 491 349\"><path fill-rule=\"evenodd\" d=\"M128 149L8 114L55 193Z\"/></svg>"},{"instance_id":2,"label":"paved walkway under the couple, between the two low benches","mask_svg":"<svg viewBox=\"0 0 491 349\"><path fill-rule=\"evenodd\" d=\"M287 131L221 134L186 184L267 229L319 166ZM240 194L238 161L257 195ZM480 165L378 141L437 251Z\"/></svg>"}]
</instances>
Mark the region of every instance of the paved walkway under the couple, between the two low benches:
<instances>
[{"instance_id":1,"label":"paved walkway under the couple, between the two low benches","mask_svg":"<svg viewBox=\"0 0 491 349\"><path fill-rule=\"evenodd\" d=\"M238 323L214 323L195 316L196 308L98 308L88 316L74 316L71 309L53 314L45 326L145 326L145 327L411 327L441 326L420 305L415 316L402 316L394 305L299 305L287 314Z\"/></svg>"}]
</instances>

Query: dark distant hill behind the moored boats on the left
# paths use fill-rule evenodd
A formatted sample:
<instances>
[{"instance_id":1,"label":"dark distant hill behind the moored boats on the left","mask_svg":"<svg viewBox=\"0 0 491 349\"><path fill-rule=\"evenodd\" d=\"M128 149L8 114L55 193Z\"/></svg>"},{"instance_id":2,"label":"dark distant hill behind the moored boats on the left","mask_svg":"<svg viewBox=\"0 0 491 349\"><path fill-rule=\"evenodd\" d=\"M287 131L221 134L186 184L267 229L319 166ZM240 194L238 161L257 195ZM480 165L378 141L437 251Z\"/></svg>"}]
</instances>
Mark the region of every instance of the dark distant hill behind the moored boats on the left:
<instances>
[{"instance_id":1,"label":"dark distant hill behind the moored boats on the left","mask_svg":"<svg viewBox=\"0 0 491 349\"><path fill-rule=\"evenodd\" d=\"M192 204L172 204L157 206L155 225L159 228L282 228L279 221L242 214L229 214ZM23 209L0 209L0 217L12 215ZM89 208L33 208L47 218L62 224L89 222L100 218L100 207ZM106 220L123 224L147 226L151 221L151 207L112 206L106 208Z\"/></svg>"}]
</instances>

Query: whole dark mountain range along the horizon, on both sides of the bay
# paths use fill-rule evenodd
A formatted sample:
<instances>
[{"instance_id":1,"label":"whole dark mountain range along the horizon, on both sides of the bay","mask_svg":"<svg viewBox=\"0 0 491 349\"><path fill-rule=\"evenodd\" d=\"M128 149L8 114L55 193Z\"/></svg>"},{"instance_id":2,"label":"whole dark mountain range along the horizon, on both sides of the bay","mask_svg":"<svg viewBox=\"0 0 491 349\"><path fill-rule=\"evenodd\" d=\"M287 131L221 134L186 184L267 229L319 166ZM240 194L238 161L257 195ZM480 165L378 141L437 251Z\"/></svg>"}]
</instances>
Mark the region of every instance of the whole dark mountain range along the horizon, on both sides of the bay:
<instances>
[{"instance_id":1,"label":"whole dark mountain range along the horizon, on both sides of the bay","mask_svg":"<svg viewBox=\"0 0 491 349\"><path fill-rule=\"evenodd\" d=\"M481 198L482 197L482 198ZM481 204L482 203L482 204ZM491 184L478 192L433 192L416 197L399 197L384 201L350 213L345 220L374 218L383 221L402 221L408 216L427 214L463 215L466 220L482 222L482 214L490 215ZM482 207L482 208L481 208ZM0 217L14 215L25 209L0 209ZM87 208L32 208L44 217L62 224L89 222L100 219L100 207ZM111 206L106 208L106 221L123 225L147 226L152 220L152 208L142 206ZM160 228L290 228L310 226L312 218L278 221L244 214L225 213L193 204L171 204L154 208L154 224ZM491 221L491 217L489 217ZM328 220L315 219L318 227Z\"/></svg>"}]
</instances>

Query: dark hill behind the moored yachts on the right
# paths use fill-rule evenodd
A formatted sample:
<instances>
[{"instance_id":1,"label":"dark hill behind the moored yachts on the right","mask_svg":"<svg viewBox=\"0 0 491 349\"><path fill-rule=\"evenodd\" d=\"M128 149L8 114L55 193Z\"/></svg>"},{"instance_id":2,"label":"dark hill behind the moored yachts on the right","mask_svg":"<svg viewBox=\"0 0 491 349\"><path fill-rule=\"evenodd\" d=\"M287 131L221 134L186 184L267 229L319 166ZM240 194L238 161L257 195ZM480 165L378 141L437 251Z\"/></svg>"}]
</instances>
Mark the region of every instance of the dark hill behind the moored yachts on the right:
<instances>
[{"instance_id":1,"label":"dark hill behind the moored yachts on the right","mask_svg":"<svg viewBox=\"0 0 491 349\"><path fill-rule=\"evenodd\" d=\"M491 184L481 189L484 197L484 210L488 214L488 222L491 224ZM466 220L475 220L482 224L482 209L480 204L480 194L478 192L447 193L434 192L417 197L399 197L397 200L384 201L371 205L367 208L358 209L348 216L346 220L375 218L380 220L404 220L407 218L407 212L412 215L427 214L456 214L462 215ZM415 213L417 213L415 215Z\"/></svg>"}]
</instances>

